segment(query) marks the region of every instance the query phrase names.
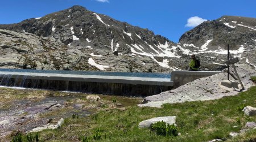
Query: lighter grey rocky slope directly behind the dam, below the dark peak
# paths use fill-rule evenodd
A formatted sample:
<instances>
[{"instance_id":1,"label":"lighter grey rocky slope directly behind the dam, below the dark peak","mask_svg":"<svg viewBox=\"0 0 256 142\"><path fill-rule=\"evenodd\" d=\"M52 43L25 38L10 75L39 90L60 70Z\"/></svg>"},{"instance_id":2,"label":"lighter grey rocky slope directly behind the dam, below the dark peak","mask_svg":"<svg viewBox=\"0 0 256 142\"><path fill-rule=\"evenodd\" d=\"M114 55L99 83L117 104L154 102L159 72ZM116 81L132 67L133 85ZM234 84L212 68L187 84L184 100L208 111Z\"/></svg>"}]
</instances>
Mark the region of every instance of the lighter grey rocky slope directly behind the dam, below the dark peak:
<instances>
[{"instance_id":1,"label":"lighter grey rocky slope directly behind the dam, below the dark peak","mask_svg":"<svg viewBox=\"0 0 256 142\"><path fill-rule=\"evenodd\" d=\"M51 37L0 29L0 68L37 70L167 71L149 57L115 56L109 50L67 46Z\"/></svg>"}]
</instances>

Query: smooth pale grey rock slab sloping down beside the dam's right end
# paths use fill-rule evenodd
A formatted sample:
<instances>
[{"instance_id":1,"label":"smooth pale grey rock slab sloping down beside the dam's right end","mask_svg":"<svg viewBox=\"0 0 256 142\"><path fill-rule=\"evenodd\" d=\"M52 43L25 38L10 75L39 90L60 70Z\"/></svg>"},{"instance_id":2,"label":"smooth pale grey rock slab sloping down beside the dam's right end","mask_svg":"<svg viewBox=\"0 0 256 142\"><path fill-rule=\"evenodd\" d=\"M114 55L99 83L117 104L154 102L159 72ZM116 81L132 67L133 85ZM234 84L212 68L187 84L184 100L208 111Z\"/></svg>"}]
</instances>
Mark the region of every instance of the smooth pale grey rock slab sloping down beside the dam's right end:
<instances>
[{"instance_id":1,"label":"smooth pale grey rock slab sloping down beside the dam's right end","mask_svg":"<svg viewBox=\"0 0 256 142\"><path fill-rule=\"evenodd\" d=\"M237 71L240 72L241 81L245 87L245 91L255 83L250 79L250 76L255 76L256 72L247 64L239 64ZM144 98L146 104L140 104L138 106L148 107L161 107L163 104L174 104L177 102L185 101L205 101L216 100L225 96L234 96L240 92L242 88L238 85L238 81L230 78L236 85L222 84L221 82L226 79L226 73L212 75L206 78L201 78L182 85L171 91L162 92L153 96ZM230 83L230 81L228 81Z\"/></svg>"}]
</instances>

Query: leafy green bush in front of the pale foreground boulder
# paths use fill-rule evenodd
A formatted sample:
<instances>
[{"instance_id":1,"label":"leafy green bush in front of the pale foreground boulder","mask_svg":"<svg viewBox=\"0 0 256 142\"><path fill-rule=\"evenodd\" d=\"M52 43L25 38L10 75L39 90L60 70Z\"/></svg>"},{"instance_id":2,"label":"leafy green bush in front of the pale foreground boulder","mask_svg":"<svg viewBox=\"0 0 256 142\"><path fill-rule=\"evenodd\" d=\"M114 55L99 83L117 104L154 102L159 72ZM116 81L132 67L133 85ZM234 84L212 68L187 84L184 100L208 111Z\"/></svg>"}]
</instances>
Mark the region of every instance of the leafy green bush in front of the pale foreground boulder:
<instances>
[{"instance_id":1,"label":"leafy green bush in front of the pale foreground boulder","mask_svg":"<svg viewBox=\"0 0 256 142\"><path fill-rule=\"evenodd\" d=\"M151 131L155 131L157 135L162 136L177 136L177 127L174 124L167 124L166 122L159 121L150 126Z\"/></svg>"}]
</instances>

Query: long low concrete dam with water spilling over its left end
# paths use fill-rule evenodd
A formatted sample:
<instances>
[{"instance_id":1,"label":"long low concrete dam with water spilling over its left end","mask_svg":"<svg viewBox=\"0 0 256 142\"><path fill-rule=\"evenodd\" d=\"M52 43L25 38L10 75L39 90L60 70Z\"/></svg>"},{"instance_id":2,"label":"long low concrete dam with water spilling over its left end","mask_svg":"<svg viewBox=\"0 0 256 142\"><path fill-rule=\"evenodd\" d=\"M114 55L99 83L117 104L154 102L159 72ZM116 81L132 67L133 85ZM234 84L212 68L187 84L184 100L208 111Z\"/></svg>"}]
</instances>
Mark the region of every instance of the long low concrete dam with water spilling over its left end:
<instances>
[{"instance_id":1,"label":"long low concrete dam with water spilling over its left end","mask_svg":"<svg viewBox=\"0 0 256 142\"><path fill-rule=\"evenodd\" d=\"M0 85L57 91L150 96L168 91L170 74L0 69Z\"/></svg>"}]
</instances>

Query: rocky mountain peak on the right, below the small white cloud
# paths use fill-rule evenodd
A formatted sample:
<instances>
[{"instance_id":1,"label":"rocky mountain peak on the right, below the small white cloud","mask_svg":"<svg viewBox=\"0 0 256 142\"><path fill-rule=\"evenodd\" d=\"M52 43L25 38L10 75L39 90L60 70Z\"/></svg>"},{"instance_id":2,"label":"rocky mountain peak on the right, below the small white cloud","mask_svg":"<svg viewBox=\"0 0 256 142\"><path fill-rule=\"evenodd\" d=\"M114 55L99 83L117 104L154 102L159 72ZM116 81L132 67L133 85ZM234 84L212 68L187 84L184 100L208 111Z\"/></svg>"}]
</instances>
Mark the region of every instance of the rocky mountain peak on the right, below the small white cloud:
<instances>
[{"instance_id":1,"label":"rocky mountain peak on the right, below the small white cloud","mask_svg":"<svg viewBox=\"0 0 256 142\"><path fill-rule=\"evenodd\" d=\"M233 50L237 50L241 45L254 42L255 25L254 18L222 16L217 20L205 21L191 31L185 32L179 42L203 46L205 42L211 40L209 46L226 47L230 44Z\"/></svg>"}]
</instances>

